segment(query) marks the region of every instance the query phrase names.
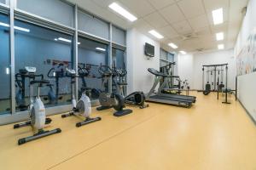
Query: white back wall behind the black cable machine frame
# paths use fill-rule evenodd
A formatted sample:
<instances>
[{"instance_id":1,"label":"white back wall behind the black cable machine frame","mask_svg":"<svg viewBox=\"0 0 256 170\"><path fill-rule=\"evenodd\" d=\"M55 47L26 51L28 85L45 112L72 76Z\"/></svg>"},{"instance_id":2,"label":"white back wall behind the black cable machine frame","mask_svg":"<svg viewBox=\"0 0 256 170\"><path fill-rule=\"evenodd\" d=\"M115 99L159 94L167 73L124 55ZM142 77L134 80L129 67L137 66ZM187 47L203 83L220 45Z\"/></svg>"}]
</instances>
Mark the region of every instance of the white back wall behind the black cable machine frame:
<instances>
[{"instance_id":1,"label":"white back wall behind the black cable machine frame","mask_svg":"<svg viewBox=\"0 0 256 170\"><path fill-rule=\"evenodd\" d=\"M211 53L186 54L177 56L177 73L182 80L188 79L191 89L202 88L202 65L229 64L228 88L235 89L236 59L233 49Z\"/></svg>"}]
</instances>

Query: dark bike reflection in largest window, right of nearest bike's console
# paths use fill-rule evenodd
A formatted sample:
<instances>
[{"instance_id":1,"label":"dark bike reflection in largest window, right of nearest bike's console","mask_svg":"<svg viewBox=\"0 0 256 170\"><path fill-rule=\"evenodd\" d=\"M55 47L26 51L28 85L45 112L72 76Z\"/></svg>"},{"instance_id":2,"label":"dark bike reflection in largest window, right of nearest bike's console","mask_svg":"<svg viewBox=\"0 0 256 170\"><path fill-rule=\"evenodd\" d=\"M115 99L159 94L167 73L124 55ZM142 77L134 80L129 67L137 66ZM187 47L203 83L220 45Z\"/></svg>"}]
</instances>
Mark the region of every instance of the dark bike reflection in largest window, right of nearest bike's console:
<instances>
[{"instance_id":1,"label":"dark bike reflection in largest window, right of nearest bike's console","mask_svg":"<svg viewBox=\"0 0 256 170\"><path fill-rule=\"evenodd\" d=\"M45 100L49 100L49 104L58 104L58 100L62 99L62 96L59 96L59 88L60 88L60 78L65 77L64 65L60 63L56 68L53 67L48 71L47 77L55 78L55 92L53 90L53 84L48 84L49 93L48 98L44 98Z\"/></svg>"}]
</instances>

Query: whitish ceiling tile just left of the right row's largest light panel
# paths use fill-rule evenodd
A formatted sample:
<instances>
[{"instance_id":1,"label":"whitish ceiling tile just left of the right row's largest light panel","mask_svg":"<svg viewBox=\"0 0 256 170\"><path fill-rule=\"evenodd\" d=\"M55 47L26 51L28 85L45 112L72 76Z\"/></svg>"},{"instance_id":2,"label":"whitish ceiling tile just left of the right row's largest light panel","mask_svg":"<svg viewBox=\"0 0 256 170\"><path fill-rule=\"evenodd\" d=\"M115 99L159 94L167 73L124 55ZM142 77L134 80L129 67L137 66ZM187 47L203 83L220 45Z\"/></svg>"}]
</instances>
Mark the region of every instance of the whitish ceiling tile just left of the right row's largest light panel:
<instances>
[{"instance_id":1,"label":"whitish ceiling tile just left of the right row's largest light panel","mask_svg":"<svg viewBox=\"0 0 256 170\"><path fill-rule=\"evenodd\" d=\"M192 26L192 28L195 31L198 31L201 28L209 26L209 22L207 20L207 15L206 14L197 16L197 17L195 17L193 19L189 19L189 23L190 23L190 26Z\"/></svg>"}]
</instances>

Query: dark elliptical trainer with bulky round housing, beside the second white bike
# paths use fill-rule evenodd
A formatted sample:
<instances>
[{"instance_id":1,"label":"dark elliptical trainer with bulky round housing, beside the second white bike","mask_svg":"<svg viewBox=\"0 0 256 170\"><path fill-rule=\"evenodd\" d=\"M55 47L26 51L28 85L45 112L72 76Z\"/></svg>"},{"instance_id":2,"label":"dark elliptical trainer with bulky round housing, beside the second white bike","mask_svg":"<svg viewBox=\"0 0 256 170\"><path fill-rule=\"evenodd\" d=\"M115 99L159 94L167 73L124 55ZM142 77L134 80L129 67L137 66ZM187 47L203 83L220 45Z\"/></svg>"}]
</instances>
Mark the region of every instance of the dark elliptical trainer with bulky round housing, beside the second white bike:
<instances>
[{"instance_id":1,"label":"dark elliptical trainer with bulky round housing, beside the second white bike","mask_svg":"<svg viewBox=\"0 0 256 170\"><path fill-rule=\"evenodd\" d=\"M106 86L106 83L113 76L113 70L108 65L100 65L98 69L100 75L102 76L102 89ZM132 110L125 109L125 99L120 94L108 94L106 92L102 92L99 97L99 101L101 106L97 107L97 111L102 111L106 109L113 108L116 112L113 113L113 116L125 116L130 114Z\"/></svg>"}]
</instances>

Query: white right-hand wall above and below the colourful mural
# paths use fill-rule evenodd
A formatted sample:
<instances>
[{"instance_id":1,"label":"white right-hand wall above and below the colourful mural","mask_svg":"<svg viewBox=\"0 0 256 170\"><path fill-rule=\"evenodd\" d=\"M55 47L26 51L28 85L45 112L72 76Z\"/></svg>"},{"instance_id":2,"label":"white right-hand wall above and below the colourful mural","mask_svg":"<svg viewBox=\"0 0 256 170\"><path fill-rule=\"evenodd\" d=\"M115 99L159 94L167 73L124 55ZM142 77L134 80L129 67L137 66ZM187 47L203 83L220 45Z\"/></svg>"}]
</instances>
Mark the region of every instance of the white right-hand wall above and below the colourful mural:
<instances>
[{"instance_id":1,"label":"white right-hand wall above and below the colourful mural","mask_svg":"<svg viewBox=\"0 0 256 170\"><path fill-rule=\"evenodd\" d=\"M247 5L247 14L245 15L241 30L236 40L235 47L235 56L240 54L241 49L244 48L247 44L247 37L256 27L256 1L250 0ZM249 114L256 121L256 73L239 76L238 81L238 99L241 101L241 104L247 109Z\"/></svg>"}]
</instances>

